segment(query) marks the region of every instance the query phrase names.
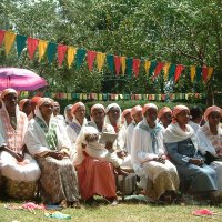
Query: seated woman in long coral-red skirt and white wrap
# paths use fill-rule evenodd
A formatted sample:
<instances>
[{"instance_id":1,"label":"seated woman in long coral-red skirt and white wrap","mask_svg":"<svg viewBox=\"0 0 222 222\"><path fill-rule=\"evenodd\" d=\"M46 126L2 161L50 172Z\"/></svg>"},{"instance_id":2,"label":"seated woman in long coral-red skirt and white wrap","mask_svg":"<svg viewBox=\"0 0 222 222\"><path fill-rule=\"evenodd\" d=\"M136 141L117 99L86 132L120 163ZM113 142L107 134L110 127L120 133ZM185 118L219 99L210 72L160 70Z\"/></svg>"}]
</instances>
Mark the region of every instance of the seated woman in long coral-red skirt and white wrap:
<instances>
[{"instance_id":1,"label":"seated woman in long coral-red skirt and white wrap","mask_svg":"<svg viewBox=\"0 0 222 222\"><path fill-rule=\"evenodd\" d=\"M105 196L117 203L113 167L110 164L111 153L98 141L101 132L114 132L111 125L104 124L104 107L94 104L91 108L90 127L85 127L77 140L74 163L78 170L80 193L84 200L93 200L94 194ZM109 145L109 144L108 144ZM108 148L108 147L107 147Z\"/></svg>"}]
</instances>

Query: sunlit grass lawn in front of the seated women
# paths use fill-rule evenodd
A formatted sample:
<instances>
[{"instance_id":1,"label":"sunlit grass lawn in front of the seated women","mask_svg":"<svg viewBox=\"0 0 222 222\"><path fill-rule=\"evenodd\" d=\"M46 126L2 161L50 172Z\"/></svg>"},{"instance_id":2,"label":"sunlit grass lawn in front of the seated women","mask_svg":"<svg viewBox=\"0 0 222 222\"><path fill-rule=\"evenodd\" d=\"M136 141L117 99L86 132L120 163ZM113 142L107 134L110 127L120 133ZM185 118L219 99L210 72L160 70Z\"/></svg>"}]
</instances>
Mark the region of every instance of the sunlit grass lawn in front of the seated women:
<instances>
[{"instance_id":1,"label":"sunlit grass lawn in front of the seated women","mask_svg":"<svg viewBox=\"0 0 222 222\"><path fill-rule=\"evenodd\" d=\"M36 214L28 210L7 210L6 202L0 202L0 221L1 222L28 222L28 221L62 221L57 219L48 219L43 212L36 210ZM9 202L10 204L20 204L21 202ZM111 206L104 202L100 202L98 206L82 205L81 209L64 209L61 212L71 215L71 220L63 221L81 221L81 222L102 222L102 221L120 221L120 222L189 222L189 221L222 221L222 215L214 218L194 216L192 212L199 209L209 209L215 212L222 212L221 208L209 205L152 205L138 202L120 203Z\"/></svg>"}]
</instances>

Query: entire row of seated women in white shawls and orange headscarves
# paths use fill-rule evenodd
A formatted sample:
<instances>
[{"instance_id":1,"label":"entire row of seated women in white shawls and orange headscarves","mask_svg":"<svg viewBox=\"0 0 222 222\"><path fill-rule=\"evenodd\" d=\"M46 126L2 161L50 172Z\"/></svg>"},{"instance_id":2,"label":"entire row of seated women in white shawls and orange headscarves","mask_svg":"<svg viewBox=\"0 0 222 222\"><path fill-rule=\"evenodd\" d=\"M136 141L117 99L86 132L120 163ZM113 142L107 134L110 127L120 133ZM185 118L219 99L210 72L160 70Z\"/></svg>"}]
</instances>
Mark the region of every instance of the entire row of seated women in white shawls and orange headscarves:
<instances>
[{"instance_id":1,"label":"entire row of seated women in white shawls and orange headscarves","mask_svg":"<svg viewBox=\"0 0 222 222\"><path fill-rule=\"evenodd\" d=\"M206 109L200 127L200 120L190 122L194 117L184 105L159 112L153 103L135 105L123 111L121 122L117 103L105 109L95 104L88 122L82 102L68 105L64 120L59 103L49 98L38 98L30 113L22 109L29 100L21 101L27 115L19 111L13 89L4 90L1 100L1 176L26 184L39 181L46 203L79 208L80 199L92 202L101 195L117 204L114 174L127 176L125 168L134 170L143 193L154 201L173 199L180 182L188 182L192 194L221 195L219 107ZM117 134L115 141L101 141L103 132Z\"/></svg>"}]
</instances>

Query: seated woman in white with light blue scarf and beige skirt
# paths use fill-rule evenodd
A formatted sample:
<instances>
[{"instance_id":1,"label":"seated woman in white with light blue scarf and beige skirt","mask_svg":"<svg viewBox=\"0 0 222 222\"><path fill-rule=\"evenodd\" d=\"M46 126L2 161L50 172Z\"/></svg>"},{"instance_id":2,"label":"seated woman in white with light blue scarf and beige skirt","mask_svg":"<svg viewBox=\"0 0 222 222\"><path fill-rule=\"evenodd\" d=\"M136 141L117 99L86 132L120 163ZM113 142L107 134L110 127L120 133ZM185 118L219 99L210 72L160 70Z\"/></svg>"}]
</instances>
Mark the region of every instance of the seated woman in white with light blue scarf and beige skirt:
<instances>
[{"instance_id":1,"label":"seated woman in white with light blue scarf and beige skirt","mask_svg":"<svg viewBox=\"0 0 222 222\"><path fill-rule=\"evenodd\" d=\"M175 167L167 160L163 132L157 123L158 107L148 103L142 109L143 120L135 127L132 137L132 163L142 181L143 190L153 201L172 202L179 189L179 176Z\"/></svg>"}]
</instances>

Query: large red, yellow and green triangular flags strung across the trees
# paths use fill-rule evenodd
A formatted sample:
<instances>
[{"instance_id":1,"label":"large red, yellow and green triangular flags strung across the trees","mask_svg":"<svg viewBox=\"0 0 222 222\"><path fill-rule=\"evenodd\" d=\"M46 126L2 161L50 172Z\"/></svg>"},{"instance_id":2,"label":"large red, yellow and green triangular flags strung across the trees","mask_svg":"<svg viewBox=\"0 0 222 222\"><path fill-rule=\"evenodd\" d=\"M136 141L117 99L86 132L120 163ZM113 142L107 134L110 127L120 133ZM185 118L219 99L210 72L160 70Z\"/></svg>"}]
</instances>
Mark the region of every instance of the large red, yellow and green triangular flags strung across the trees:
<instances>
[{"instance_id":1,"label":"large red, yellow and green triangular flags strung across the trees","mask_svg":"<svg viewBox=\"0 0 222 222\"><path fill-rule=\"evenodd\" d=\"M137 58L127 58L124 56L90 51L72 46L44 41L0 29L0 47L4 44L4 51L7 56L9 54L14 41L18 57L20 57L23 49L27 48L30 60L33 60L34 53L38 51L39 62L47 57L49 64L51 64L57 54L59 67L62 65L64 59L67 58L68 67L71 68L71 65L74 63L77 70L80 69L85 59L89 71L92 71L95 61L98 70L101 71L107 60L109 70L115 73L117 77L120 74L127 74L129 78L138 78L142 63L147 75L152 77L153 80L155 80L162 70L164 80L168 81L173 79L174 82L178 82L183 70L186 68L190 69L191 82L194 80L201 81L202 79L204 83L206 83L213 74L213 67L188 67L184 64L173 64L171 62L158 62Z\"/></svg>"}]
</instances>

